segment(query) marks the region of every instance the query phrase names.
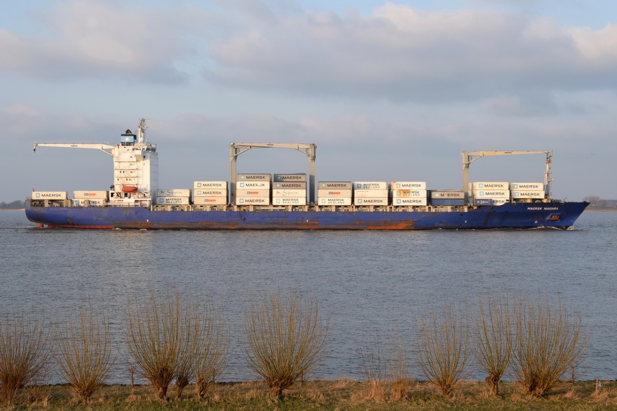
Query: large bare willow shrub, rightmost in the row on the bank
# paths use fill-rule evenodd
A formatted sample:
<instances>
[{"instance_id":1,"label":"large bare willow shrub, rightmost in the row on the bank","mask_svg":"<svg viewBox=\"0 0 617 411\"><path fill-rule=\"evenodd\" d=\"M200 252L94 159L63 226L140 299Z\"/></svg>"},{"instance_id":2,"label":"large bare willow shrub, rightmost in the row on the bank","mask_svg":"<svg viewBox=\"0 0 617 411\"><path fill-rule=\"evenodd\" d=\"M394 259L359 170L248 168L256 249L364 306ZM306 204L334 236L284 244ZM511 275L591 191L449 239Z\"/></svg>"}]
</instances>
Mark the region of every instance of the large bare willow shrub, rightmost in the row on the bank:
<instances>
[{"instance_id":1,"label":"large bare willow shrub, rightmost in the row on the bank","mask_svg":"<svg viewBox=\"0 0 617 411\"><path fill-rule=\"evenodd\" d=\"M514 306L516 342L513 366L516 380L531 396L549 391L579 362L587 345L582 315L549 301L521 298Z\"/></svg>"}]
</instances>

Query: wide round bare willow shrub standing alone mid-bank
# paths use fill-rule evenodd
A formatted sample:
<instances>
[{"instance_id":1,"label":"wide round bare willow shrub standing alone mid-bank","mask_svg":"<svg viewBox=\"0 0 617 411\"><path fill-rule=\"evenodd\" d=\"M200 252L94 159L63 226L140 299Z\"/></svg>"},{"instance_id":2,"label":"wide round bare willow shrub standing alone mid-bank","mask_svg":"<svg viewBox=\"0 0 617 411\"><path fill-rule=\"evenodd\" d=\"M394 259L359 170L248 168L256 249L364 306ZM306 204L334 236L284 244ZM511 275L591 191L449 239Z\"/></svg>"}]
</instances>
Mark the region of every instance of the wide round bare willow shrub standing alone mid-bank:
<instances>
[{"instance_id":1,"label":"wide round bare willow shrub standing alone mid-bank","mask_svg":"<svg viewBox=\"0 0 617 411\"><path fill-rule=\"evenodd\" d=\"M317 299L302 301L294 291L284 298L279 290L247 309L242 351L270 395L281 398L284 389L320 364L327 336Z\"/></svg>"}]
</instances>

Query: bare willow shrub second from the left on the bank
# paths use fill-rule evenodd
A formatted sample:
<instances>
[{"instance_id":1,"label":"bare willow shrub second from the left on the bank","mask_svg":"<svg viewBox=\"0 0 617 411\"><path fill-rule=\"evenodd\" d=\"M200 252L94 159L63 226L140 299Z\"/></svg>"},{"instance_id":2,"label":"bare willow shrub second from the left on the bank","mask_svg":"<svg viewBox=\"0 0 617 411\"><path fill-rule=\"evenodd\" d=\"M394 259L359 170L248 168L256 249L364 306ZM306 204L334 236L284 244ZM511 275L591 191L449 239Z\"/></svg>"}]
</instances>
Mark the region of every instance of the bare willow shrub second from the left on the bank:
<instances>
[{"instance_id":1,"label":"bare willow shrub second from the left on the bank","mask_svg":"<svg viewBox=\"0 0 617 411\"><path fill-rule=\"evenodd\" d=\"M79 310L79 320L60 327L55 357L73 396L88 402L114 365L109 321L94 317L92 305Z\"/></svg>"}]
</instances>

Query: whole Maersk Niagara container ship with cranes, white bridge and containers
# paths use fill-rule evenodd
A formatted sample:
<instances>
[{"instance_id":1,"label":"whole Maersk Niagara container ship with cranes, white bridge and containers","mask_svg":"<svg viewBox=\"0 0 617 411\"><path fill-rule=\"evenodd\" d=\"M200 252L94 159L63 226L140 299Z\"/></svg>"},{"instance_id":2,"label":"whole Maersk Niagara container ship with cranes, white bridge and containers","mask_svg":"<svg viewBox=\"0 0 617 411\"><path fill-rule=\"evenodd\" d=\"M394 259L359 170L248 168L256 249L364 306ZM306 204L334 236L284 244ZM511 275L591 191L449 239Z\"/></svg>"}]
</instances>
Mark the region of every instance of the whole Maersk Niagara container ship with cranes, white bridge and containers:
<instances>
[{"instance_id":1,"label":"whole Maersk Niagara container ship with cranes, white bridge and containers","mask_svg":"<svg viewBox=\"0 0 617 411\"><path fill-rule=\"evenodd\" d=\"M158 153L137 134L117 145L36 143L101 150L114 159L109 190L34 191L27 218L38 227L196 230L571 229L589 203L553 201L549 151L463 152L462 190L428 190L425 181L317 181L315 144L231 143L230 181L193 181L193 188L160 189ZM309 174L238 174L238 155L250 149L298 150ZM492 155L546 155L543 182L469 181L472 161ZM315 188L317 187L317 190ZM316 192L317 191L317 192Z\"/></svg>"}]
</instances>

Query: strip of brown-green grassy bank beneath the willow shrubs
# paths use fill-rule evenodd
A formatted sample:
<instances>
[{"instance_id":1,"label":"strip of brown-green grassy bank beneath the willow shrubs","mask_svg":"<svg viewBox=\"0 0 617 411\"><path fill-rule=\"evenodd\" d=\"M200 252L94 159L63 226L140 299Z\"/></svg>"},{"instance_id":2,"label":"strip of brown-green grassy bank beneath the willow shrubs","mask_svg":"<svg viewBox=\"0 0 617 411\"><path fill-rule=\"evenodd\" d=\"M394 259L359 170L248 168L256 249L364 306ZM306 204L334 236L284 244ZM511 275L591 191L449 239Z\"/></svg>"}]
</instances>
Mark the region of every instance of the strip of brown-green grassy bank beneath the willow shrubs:
<instances>
[{"instance_id":1,"label":"strip of brown-green grassy bank beneath the willow shrubs","mask_svg":"<svg viewBox=\"0 0 617 411\"><path fill-rule=\"evenodd\" d=\"M23 389L11 410L617 410L617 383L606 381L595 393L595 381L561 382L549 393L531 398L516 383L503 383L498 397L485 383L463 383L452 396L442 397L428 383L412 383L403 399L370 397L365 382L308 381L293 386L281 401L268 395L260 382L217 384L205 399L188 386L180 400L155 400L151 386L110 385L98 389L89 404L73 399L66 386Z\"/></svg>"}]
</instances>

